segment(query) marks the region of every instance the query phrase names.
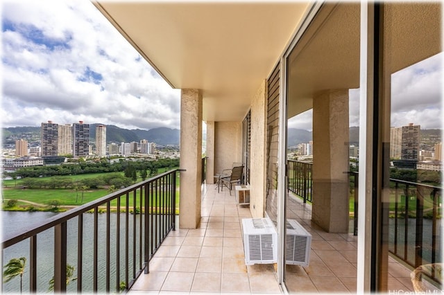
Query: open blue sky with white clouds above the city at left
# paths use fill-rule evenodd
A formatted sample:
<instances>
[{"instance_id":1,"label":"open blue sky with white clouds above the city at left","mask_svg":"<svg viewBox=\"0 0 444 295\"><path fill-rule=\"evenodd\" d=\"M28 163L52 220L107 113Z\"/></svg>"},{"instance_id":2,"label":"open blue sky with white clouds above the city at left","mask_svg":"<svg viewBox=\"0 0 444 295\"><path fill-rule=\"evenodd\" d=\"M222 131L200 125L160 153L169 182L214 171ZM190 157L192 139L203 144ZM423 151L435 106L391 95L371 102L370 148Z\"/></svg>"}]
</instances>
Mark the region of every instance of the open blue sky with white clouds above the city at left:
<instances>
[{"instance_id":1,"label":"open blue sky with white clouds above the city at left","mask_svg":"<svg viewBox=\"0 0 444 295\"><path fill-rule=\"evenodd\" d=\"M3 127L180 128L171 89L90 1L3 1Z\"/></svg>"}]
</instances>

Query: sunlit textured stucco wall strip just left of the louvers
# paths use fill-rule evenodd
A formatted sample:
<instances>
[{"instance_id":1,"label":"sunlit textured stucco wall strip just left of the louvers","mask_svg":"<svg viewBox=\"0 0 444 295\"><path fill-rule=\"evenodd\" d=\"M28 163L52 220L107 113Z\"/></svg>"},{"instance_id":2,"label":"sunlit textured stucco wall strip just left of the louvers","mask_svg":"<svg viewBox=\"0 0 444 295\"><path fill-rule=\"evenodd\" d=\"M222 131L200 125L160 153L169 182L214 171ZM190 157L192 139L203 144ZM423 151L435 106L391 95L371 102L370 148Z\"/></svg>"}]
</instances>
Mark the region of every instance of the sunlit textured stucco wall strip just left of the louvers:
<instances>
[{"instance_id":1,"label":"sunlit textured stucco wall strip just left of the louvers","mask_svg":"<svg viewBox=\"0 0 444 295\"><path fill-rule=\"evenodd\" d=\"M264 217L266 190L266 80L251 103L250 211Z\"/></svg>"}]
</instances>

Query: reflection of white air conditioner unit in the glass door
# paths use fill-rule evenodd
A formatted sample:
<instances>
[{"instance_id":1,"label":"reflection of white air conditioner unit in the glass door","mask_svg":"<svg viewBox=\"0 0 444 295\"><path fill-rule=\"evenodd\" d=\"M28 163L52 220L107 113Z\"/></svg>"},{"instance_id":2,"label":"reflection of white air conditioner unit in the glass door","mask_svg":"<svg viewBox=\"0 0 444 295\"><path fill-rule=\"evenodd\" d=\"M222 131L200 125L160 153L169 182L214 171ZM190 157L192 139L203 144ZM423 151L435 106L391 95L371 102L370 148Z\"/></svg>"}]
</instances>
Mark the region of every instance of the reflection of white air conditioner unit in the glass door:
<instances>
[{"instance_id":1,"label":"reflection of white air conditioner unit in the glass door","mask_svg":"<svg viewBox=\"0 0 444 295\"><path fill-rule=\"evenodd\" d=\"M288 265L307 267L310 258L311 234L296 220L287 220L285 260Z\"/></svg>"}]
</instances>

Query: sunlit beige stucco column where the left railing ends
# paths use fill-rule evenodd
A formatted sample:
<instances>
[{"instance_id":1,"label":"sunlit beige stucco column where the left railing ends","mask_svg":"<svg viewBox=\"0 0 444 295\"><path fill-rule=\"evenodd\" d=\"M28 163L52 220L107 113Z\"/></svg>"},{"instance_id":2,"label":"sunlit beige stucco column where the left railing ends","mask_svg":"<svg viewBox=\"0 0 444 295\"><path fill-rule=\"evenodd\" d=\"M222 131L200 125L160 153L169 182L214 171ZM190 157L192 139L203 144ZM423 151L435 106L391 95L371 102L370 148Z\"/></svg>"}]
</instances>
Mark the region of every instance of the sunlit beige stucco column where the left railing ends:
<instances>
[{"instance_id":1,"label":"sunlit beige stucco column where the left railing ends","mask_svg":"<svg viewBox=\"0 0 444 295\"><path fill-rule=\"evenodd\" d=\"M202 93L182 89L180 96L180 229L196 229L200 222L202 180Z\"/></svg>"}]
</instances>

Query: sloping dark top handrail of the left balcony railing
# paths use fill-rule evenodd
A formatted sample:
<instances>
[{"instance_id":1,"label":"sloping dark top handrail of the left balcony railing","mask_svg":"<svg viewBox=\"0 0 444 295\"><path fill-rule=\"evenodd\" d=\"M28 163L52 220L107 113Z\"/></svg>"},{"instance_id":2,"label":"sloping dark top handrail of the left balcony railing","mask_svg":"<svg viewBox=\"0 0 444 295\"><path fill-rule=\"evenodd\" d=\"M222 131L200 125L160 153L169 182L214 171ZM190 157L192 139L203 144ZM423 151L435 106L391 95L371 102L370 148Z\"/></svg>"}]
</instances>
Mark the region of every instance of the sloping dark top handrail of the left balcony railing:
<instances>
[{"instance_id":1,"label":"sloping dark top handrail of the left balcony railing","mask_svg":"<svg viewBox=\"0 0 444 295\"><path fill-rule=\"evenodd\" d=\"M120 195L124 195L135 188L139 188L141 186L144 186L145 184L149 184L157 179L160 179L164 177L165 175L169 175L171 172L174 171L180 171L181 169L173 169L169 170L167 172L164 172L160 175L156 175L155 177L151 177L150 179L146 179L145 181L139 182L137 184L133 184L132 186L128 186L126 188L122 188L121 190L117 190L113 193L110 193L108 195L105 195L104 197L101 197L99 199L96 199L92 202L88 202L87 204L83 204L80 206L77 206L76 208L72 208L69 211L59 213L56 216L49 217L48 219L44 220L43 222L39 222L31 227L24 228L19 231L19 233L15 233L13 235L6 235L6 237L3 237L1 242L1 249L6 249L13 244L17 244L17 242L22 242L22 240L26 240L28 238L31 238L33 235L36 235L37 233L42 233L42 231L46 231L47 229L51 229L53 226L56 226L57 224L61 224L62 222L67 222L68 220L71 220L74 217L77 217L80 214L86 213L87 211L90 211L97 206L100 206L101 204L105 204L107 202L112 201L116 197L119 197Z\"/></svg>"}]
</instances>

